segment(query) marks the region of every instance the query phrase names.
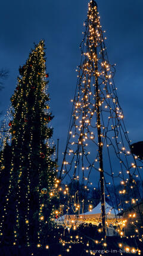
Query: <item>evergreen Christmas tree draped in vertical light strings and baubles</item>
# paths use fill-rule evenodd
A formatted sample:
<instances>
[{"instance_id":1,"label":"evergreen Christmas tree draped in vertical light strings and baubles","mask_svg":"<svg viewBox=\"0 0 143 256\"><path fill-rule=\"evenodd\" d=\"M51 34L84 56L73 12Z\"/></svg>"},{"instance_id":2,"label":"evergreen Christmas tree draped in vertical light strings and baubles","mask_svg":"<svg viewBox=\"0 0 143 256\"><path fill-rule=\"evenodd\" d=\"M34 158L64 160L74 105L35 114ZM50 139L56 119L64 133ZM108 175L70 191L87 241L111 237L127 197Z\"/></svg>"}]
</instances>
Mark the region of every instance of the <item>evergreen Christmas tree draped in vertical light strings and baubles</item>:
<instances>
[{"instance_id":1,"label":"evergreen Christmas tree draped in vertical light strings and baubles","mask_svg":"<svg viewBox=\"0 0 143 256\"><path fill-rule=\"evenodd\" d=\"M40 41L20 67L11 97L10 145L5 143L1 152L1 183L7 176L1 202L1 245L46 246L48 230L54 227L56 162L45 62ZM10 152L7 164L5 152Z\"/></svg>"}]
</instances>

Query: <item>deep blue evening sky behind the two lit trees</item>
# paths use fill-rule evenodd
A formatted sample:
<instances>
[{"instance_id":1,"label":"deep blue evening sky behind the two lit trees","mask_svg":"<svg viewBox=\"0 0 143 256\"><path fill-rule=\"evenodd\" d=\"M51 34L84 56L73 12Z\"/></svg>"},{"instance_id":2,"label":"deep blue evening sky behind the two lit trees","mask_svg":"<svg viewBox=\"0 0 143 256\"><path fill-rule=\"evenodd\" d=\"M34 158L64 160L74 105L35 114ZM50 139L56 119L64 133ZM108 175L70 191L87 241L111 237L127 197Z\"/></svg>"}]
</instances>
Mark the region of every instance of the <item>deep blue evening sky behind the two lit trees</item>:
<instances>
[{"instance_id":1,"label":"deep blue evening sky behind the two lit trees","mask_svg":"<svg viewBox=\"0 0 143 256\"><path fill-rule=\"evenodd\" d=\"M125 124L133 142L143 140L143 2L97 0L110 64L117 64L115 83ZM1 2L0 67L10 71L1 92L5 113L18 76L18 67L29 56L33 42L45 39L54 140L64 150L71 103L76 86L76 66L87 0L14 0ZM61 151L61 150L60 150Z\"/></svg>"}]
</instances>

